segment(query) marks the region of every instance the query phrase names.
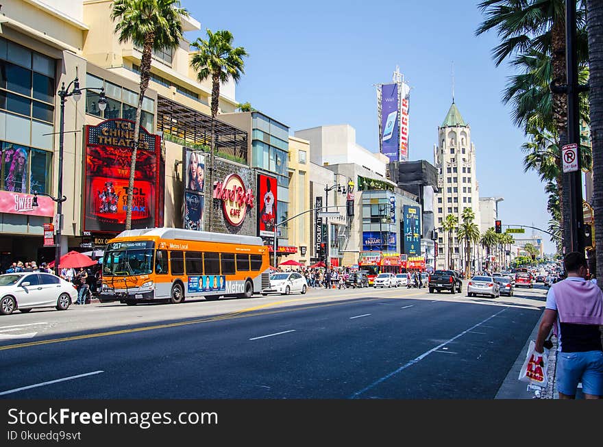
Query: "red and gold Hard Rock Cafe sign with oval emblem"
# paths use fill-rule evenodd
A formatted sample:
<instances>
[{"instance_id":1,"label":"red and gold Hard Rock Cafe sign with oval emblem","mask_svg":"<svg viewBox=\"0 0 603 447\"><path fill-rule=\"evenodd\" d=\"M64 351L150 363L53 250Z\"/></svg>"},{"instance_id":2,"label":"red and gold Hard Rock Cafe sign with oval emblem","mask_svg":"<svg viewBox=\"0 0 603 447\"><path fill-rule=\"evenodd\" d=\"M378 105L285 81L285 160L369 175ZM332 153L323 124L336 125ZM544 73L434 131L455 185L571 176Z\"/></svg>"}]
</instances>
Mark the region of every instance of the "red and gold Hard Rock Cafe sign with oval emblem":
<instances>
[{"instance_id":1,"label":"red and gold Hard Rock Cafe sign with oval emblem","mask_svg":"<svg viewBox=\"0 0 603 447\"><path fill-rule=\"evenodd\" d=\"M245 188L243 179L236 174L214 182L214 199L222 201L224 217L234 227L243 224L247 207L252 208L256 201L254 191Z\"/></svg>"}]
</instances>

